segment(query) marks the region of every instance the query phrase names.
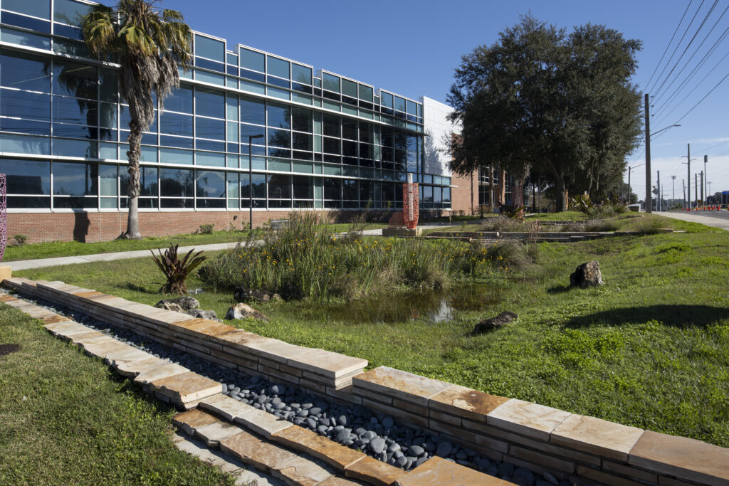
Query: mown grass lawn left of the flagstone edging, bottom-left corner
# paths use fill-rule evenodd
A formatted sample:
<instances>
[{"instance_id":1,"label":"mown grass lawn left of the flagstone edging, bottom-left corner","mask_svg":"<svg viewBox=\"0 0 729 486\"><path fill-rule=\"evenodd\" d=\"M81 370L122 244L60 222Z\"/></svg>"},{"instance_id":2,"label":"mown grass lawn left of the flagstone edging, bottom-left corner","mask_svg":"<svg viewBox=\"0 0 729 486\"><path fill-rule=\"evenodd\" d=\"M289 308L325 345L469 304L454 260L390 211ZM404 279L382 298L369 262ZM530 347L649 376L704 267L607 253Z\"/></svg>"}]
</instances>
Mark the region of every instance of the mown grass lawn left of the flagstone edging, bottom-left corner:
<instances>
[{"instance_id":1,"label":"mown grass lawn left of the flagstone edging, bottom-left corner","mask_svg":"<svg viewBox=\"0 0 729 486\"><path fill-rule=\"evenodd\" d=\"M0 304L0 484L232 485L176 449L174 409Z\"/></svg>"}]
</instances>

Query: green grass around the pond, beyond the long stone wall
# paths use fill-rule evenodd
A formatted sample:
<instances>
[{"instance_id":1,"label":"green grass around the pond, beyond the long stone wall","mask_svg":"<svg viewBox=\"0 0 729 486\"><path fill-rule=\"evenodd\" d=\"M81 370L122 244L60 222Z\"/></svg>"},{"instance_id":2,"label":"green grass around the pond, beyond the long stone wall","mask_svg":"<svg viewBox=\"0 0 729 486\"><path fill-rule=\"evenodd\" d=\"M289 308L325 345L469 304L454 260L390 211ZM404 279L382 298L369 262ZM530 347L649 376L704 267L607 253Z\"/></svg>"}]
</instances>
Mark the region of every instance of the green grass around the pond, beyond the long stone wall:
<instances>
[{"instance_id":1,"label":"green grass around the pond, beyond the long stone wall","mask_svg":"<svg viewBox=\"0 0 729 486\"><path fill-rule=\"evenodd\" d=\"M660 216L652 216L661 218ZM270 323L234 321L257 334L630 426L729 447L729 232L663 219L687 233L539 243L537 266L496 272L480 310L453 321L394 324L327 318L316 302L256 305ZM605 284L569 289L582 262ZM151 259L25 270L154 304L161 275ZM193 277L189 289L202 287ZM219 315L228 293L206 291ZM386 296L383 299L397 299ZM515 324L472 336L502 310Z\"/></svg>"}]
</instances>

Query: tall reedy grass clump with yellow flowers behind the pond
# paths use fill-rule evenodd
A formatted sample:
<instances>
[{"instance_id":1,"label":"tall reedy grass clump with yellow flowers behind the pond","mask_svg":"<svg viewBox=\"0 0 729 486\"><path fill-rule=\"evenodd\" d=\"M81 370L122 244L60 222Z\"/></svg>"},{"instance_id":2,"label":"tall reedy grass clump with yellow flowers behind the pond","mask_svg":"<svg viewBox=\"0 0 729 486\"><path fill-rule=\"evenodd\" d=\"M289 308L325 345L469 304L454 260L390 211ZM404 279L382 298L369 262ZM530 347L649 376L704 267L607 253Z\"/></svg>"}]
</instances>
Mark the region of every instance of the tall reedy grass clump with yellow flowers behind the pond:
<instances>
[{"instance_id":1,"label":"tall reedy grass clump with yellow flowers behind the pond","mask_svg":"<svg viewBox=\"0 0 729 486\"><path fill-rule=\"evenodd\" d=\"M292 213L289 227L266 230L208 260L203 281L218 289L265 289L288 299L354 299L397 289L440 289L488 272L485 249L445 240L335 235L314 213Z\"/></svg>"}]
</instances>

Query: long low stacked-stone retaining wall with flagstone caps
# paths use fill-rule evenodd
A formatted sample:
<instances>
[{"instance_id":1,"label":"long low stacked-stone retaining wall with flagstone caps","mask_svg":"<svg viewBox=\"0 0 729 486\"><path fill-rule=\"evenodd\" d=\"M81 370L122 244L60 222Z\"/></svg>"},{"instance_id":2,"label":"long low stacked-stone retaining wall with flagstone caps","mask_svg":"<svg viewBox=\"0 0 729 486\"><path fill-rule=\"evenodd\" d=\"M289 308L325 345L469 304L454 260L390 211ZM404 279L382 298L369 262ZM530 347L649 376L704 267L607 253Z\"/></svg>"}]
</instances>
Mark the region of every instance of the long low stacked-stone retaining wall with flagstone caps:
<instances>
[{"instance_id":1,"label":"long low stacked-stone retaining wall with flagstone caps","mask_svg":"<svg viewBox=\"0 0 729 486\"><path fill-rule=\"evenodd\" d=\"M729 449L695 439L493 396L388 367L363 372L363 359L289 345L63 282L9 278L3 283L222 366L386 412L494 460L548 471L573 484L729 486Z\"/></svg>"}]
</instances>

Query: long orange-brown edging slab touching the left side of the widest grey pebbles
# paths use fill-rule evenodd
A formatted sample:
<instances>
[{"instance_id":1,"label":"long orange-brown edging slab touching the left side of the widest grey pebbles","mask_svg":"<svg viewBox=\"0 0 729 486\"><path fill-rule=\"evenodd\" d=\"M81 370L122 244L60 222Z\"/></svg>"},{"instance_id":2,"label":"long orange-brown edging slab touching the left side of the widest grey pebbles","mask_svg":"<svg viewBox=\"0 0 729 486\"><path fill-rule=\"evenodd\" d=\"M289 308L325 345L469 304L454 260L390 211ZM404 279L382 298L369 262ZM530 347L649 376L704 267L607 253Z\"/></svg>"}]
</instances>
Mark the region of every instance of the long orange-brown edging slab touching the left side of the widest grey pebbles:
<instances>
[{"instance_id":1,"label":"long orange-brown edging slab touching the left side of the widest grey pebbles","mask_svg":"<svg viewBox=\"0 0 729 486\"><path fill-rule=\"evenodd\" d=\"M284 430L272 434L271 439L292 449L307 452L340 471L344 471L356 461L366 457L362 452L345 447L328 437L320 436L316 432L300 426L284 428Z\"/></svg>"}]
</instances>

